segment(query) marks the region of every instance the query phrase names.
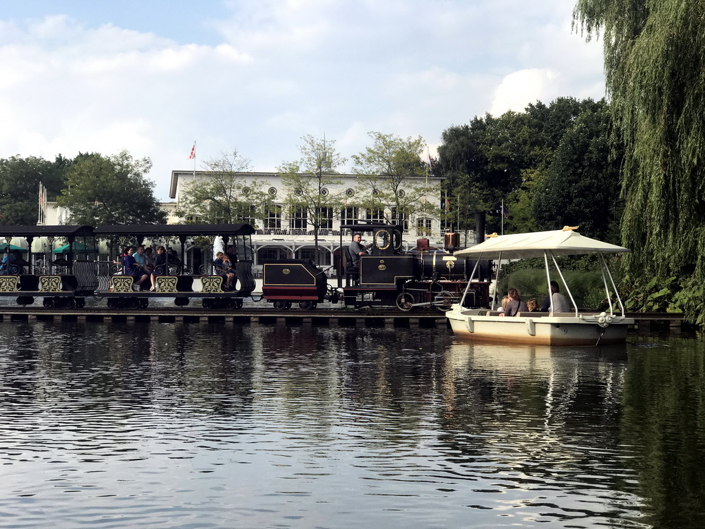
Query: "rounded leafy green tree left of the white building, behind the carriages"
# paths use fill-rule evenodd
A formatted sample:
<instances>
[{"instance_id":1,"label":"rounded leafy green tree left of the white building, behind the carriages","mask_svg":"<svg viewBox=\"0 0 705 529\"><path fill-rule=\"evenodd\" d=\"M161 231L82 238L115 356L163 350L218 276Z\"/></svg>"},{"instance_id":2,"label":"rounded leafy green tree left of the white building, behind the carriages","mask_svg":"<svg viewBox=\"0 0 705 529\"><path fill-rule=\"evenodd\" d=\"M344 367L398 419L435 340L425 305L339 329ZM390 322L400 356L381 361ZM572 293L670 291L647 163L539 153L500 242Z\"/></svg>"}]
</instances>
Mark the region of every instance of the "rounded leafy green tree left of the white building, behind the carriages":
<instances>
[{"instance_id":1,"label":"rounded leafy green tree left of the white building, behind the carriages","mask_svg":"<svg viewBox=\"0 0 705 529\"><path fill-rule=\"evenodd\" d=\"M160 224L166 213L154 198L154 183L145 178L149 158L127 151L113 156L79 154L66 171L66 187L56 199L69 209L73 224Z\"/></svg>"}]
</instances>

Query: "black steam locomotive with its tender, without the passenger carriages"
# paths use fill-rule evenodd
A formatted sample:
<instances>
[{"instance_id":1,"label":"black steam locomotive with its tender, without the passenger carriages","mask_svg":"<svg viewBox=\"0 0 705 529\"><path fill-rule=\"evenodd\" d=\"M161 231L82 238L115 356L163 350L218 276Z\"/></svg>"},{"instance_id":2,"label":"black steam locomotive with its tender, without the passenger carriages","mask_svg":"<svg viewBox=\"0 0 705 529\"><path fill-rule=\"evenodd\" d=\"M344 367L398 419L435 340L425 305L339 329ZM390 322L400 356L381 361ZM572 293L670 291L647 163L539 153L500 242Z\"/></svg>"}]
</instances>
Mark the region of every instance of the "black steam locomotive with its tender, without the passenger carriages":
<instances>
[{"instance_id":1,"label":"black steam locomotive with its tender, without the passenger carriages","mask_svg":"<svg viewBox=\"0 0 705 529\"><path fill-rule=\"evenodd\" d=\"M354 256L349 245L343 245L343 233L372 236L367 255L360 256L353 267ZM468 285L476 262L458 259L452 250L458 247L458 235L446 236L447 250L419 245L410 252L402 249L401 226L391 224L356 223L341 226L341 251L336 269L338 288L328 286L324 271L310 261L266 261L263 264L262 293L275 308L290 308L299 303L309 310L317 303L343 298L346 306L389 306L399 310L417 307L446 311L458 303ZM479 281L472 281L465 305L489 306L491 264L477 263Z\"/></svg>"}]
</instances>

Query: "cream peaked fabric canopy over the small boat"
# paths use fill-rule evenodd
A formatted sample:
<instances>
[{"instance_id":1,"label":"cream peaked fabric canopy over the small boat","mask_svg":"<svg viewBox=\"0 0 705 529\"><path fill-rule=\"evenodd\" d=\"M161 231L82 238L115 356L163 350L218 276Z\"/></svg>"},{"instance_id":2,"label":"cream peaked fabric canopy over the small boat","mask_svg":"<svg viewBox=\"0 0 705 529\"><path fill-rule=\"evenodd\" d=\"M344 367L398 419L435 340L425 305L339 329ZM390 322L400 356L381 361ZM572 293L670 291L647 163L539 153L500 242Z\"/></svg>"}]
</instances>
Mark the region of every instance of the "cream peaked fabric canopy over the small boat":
<instances>
[{"instance_id":1,"label":"cream peaked fabric canopy over the small boat","mask_svg":"<svg viewBox=\"0 0 705 529\"><path fill-rule=\"evenodd\" d=\"M482 254L486 259L522 259L552 255L583 255L588 253L623 253L628 248L603 243L572 231L572 229L536 231L534 233L512 233L490 236L484 241L465 250L455 252L456 257L470 257Z\"/></svg>"}]
</instances>

